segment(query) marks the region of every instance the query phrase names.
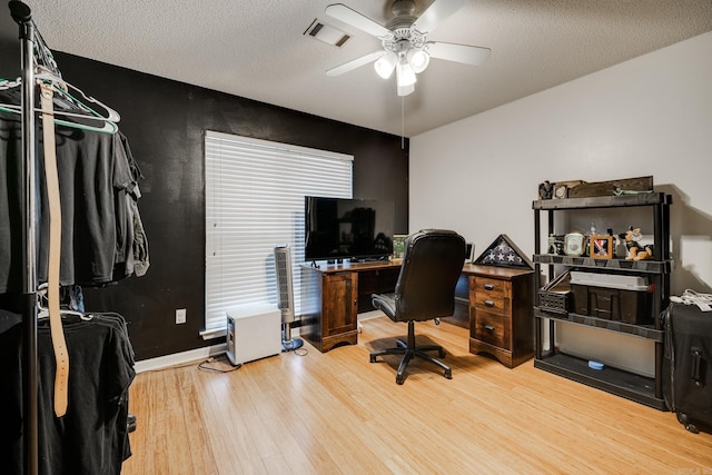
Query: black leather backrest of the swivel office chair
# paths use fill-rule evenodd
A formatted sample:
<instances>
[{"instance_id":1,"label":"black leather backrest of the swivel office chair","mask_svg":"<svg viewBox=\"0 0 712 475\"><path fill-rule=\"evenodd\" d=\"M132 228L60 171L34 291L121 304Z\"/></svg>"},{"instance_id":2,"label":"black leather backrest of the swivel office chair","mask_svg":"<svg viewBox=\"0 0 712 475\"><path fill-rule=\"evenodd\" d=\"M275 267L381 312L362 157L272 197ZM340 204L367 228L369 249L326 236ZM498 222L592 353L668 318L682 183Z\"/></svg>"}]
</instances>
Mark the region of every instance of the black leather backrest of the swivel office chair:
<instances>
[{"instance_id":1,"label":"black leather backrest of the swivel office chair","mask_svg":"<svg viewBox=\"0 0 712 475\"><path fill-rule=\"evenodd\" d=\"M396 283L397 320L422 321L454 314L465 247L462 236L445 229L421 230L407 237Z\"/></svg>"}]
</instances>

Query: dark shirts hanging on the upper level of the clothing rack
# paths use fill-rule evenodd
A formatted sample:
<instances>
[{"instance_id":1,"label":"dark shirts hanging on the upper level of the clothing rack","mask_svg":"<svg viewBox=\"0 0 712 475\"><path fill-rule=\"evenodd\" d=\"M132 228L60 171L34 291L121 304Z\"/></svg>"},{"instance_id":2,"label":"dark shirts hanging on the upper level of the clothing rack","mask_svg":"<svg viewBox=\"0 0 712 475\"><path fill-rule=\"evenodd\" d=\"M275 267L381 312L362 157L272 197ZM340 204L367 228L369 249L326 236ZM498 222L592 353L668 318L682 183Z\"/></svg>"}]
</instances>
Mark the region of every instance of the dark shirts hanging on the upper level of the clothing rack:
<instances>
[{"instance_id":1,"label":"dark shirts hanging on the upper level of the clothing rack","mask_svg":"<svg viewBox=\"0 0 712 475\"><path fill-rule=\"evenodd\" d=\"M38 137L41 133L38 131ZM103 285L120 280L134 269L136 236L136 166L125 138L68 127L56 128L57 169L61 200L60 284ZM49 208L44 186L44 150L37 147L39 184L38 278L47 281ZM21 290L22 267L22 148L19 116L0 112L0 294ZM136 198L135 198L136 199ZM146 247L147 249L147 247ZM148 263L146 255L145 261ZM120 271L115 274L115 265Z\"/></svg>"}]
</instances>

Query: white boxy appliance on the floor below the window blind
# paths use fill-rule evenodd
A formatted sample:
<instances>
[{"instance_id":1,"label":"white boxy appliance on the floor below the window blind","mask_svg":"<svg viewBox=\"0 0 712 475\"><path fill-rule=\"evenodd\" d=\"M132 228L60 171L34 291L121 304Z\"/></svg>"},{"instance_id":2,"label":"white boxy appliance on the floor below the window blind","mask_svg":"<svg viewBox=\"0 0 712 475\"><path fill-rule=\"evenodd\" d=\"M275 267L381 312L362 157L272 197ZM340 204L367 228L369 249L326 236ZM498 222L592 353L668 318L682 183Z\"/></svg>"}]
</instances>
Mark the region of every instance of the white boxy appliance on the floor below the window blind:
<instances>
[{"instance_id":1,"label":"white boxy appliance on the floor below the window blind","mask_svg":"<svg viewBox=\"0 0 712 475\"><path fill-rule=\"evenodd\" d=\"M240 305L227 310L227 358L234 365L281 353L281 314L274 305Z\"/></svg>"}]
</instances>

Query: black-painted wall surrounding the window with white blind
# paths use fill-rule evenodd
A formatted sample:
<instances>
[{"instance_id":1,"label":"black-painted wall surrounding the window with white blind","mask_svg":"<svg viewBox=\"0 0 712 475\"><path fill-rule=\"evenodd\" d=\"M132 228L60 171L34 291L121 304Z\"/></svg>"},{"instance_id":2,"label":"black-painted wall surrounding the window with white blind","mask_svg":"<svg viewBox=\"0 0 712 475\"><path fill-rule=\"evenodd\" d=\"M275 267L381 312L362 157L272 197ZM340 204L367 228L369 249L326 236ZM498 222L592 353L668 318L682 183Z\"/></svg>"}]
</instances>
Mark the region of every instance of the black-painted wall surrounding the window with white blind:
<instances>
[{"instance_id":1,"label":"black-painted wall surrounding the window with white blind","mask_svg":"<svg viewBox=\"0 0 712 475\"><path fill-rule=\"evenodd\" d=\"M57 52L56 59L67 81L121 115L119 127L146 177L139 209L149 244L147 275L85 289L88 310L126 317L137 359L220 342L199 336L205 314L205 130L353 155L354 196L394 201L396 231L408 230L407 139L402 149L397 136L71 55ZM0 67L0 77L16 75L7 71L7 57ZM175 324L177 308L187 309L184 325Z\"/></svg>"}]
</instances>

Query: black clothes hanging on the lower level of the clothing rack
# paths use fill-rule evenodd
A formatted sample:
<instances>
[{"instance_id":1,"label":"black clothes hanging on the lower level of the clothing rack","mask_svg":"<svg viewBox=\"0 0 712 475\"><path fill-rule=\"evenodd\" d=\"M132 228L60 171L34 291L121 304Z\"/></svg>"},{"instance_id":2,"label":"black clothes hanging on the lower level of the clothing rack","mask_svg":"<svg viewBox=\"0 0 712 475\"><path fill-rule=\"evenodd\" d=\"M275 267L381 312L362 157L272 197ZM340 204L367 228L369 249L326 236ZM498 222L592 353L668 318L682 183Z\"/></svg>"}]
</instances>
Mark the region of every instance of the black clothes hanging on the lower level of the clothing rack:
<instances>
[{"instance_id":1,"label":"black clothes hanging on the lower level of the clothing rack","mask_svg":"<svg viewBox=\"0 0 712 475\"><path fill-rule=\"evenodd\" d=\"M3 314L0 314L2 316ZM7 314L4 314L7 315ZM0 327L0 473L22 473L21 325ZM19 320L19 319L18 319ZM120 316L85 321L63 317L69 350L69 406L53 410L55 355L49 321L40 321L39 472L40 474L119 474L130 456L128 389L135 377L134 352Z\"/></svg>"}]
</instances>

